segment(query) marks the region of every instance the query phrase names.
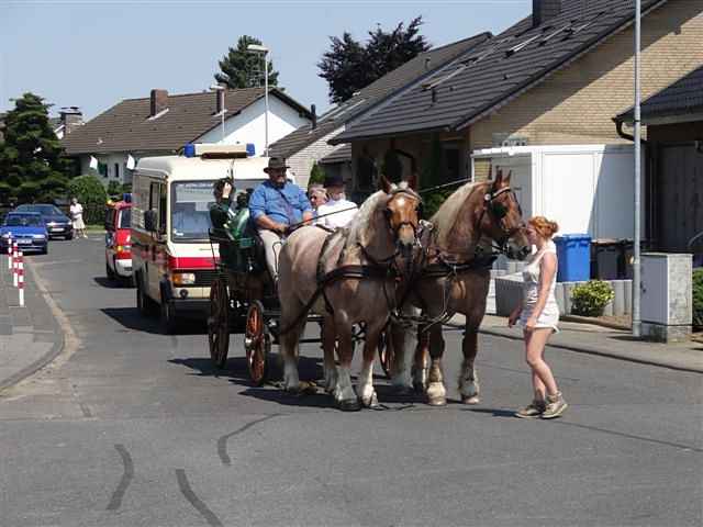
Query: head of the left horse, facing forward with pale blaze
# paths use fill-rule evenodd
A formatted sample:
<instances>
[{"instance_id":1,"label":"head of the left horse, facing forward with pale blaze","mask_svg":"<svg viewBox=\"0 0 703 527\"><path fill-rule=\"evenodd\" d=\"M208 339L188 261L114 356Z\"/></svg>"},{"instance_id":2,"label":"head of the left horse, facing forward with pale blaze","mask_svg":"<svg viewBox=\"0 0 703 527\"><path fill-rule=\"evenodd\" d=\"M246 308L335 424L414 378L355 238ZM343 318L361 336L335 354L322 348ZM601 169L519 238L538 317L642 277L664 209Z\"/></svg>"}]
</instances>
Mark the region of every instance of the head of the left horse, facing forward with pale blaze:
<instances>
[{"instance_id":1,"label":"head of the left horse, facing forward with pale blaze","mask_svg":"<svg viewBox=\"0 0 703 527\"><path fill-rule=\"evenodd\" d=\"M412 189L413 181L414 178L393 184L384 176L381 177L381 190L388 194L383 214L395 246L405 259L412 258L413 248L417 246L422 206L422 198Z\"/></svg>"}]
</instances>

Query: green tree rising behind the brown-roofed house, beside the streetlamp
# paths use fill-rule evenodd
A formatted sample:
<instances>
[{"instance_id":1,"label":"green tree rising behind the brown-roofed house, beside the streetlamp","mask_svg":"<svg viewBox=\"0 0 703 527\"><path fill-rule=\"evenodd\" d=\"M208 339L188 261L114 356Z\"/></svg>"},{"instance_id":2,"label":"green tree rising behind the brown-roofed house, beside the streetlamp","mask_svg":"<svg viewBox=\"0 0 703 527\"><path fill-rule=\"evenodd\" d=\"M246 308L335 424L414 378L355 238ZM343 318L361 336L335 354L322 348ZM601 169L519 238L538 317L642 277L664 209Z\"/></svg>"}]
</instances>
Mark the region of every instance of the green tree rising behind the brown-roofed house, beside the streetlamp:
<instances>
[{"instance_id":1,"label":"green tree rising behind the brown-roofed house, beside the streetlamp","mask_svg":"<svg viewBox=\"0 0 703 527\"><path fill-rule=\"evenodd\" d=\"M243 35L237 41L237 47L220 60L221 72L215 74L215 80L227 88L253 88L264 86L264 65L261 55L247 51L249 44L261 45L261 41L253 36ZM268 85L278 86L278 71L274 70L274 63L268 61Z\"/></svg>"}]
</instances>

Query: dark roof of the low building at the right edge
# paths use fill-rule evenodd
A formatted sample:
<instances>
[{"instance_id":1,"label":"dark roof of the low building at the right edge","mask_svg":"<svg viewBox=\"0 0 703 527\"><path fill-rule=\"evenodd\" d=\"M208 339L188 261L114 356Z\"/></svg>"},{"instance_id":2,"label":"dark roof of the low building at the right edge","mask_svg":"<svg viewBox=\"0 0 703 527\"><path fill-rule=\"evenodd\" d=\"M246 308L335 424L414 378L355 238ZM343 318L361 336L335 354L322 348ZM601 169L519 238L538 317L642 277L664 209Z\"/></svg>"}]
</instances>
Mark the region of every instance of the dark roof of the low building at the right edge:
<instances>
[{"instance_id":1,"label":"dark roof of the low building at the right edge","mask_svg":"<svg viewBox=\"0 0 703 527\"><path fill-rule=\"evenodd\" d=\"M632 122L634 113L634 109L629 109L615 119ZM689 113L703 113L703 66L641 103L641 121L645 124L648 120Z\"/></svg>"}]
</instances>

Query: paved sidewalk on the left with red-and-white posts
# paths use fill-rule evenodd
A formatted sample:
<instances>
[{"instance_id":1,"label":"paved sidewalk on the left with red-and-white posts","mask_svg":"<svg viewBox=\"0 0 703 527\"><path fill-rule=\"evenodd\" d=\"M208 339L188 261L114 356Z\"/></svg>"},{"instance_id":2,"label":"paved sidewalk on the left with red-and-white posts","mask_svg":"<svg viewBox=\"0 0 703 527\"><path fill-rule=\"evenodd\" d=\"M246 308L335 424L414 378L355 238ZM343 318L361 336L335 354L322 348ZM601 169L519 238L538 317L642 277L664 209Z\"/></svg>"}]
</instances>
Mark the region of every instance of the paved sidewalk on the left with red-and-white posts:
<instances>
[{"instance_id":1,"label":"paved sidewalk on the left with red-and-white posts","mask_svg":"<svg viewBox=\"0 0 703 527\"><path fill-rule=\"evenodd\" d=\"M8 256L0 256L0 392L51 362L64 343L26 257L24 267L24 307L20 307Z\"/></svg>"}]
</instances>

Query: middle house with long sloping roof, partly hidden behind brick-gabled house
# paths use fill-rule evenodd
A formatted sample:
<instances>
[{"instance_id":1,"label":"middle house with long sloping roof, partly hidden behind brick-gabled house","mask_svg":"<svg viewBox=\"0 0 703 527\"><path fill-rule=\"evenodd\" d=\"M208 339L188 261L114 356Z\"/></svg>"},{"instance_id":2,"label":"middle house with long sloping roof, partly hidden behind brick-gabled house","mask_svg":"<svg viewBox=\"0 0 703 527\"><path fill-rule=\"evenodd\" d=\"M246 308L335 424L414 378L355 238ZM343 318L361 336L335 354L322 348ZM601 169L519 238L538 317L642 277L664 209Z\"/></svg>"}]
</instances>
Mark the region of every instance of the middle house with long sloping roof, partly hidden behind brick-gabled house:
<instances>
[{"instance_id":1,"label":"middle house with long sloping roof, partly hidden behind brick-gabled house","mask_svg":"<svg viewBox=\"0 0 703 527\"><path fill-rule=\"evenodd\" d=\"M347 101L331 109L328 112L312 121L293 133L271 145L271 154L286 157L290 165L290 172L301 184L308 183L313 165L325 156L331 155L336 147L327 142L344 132L352 123L379 106L393 94L398 94L432 75L456 57L486 42L490 33L465 38L446 46L436 47L421 53L413 59L384 75L382 78L359 90ZM345 149L335 155L348 153ZM347 158L345 161L350 160ZM353 191L354 189L349 189Z\"/></svg>"}]
</instances>

